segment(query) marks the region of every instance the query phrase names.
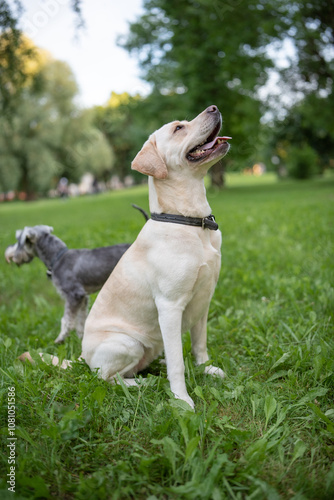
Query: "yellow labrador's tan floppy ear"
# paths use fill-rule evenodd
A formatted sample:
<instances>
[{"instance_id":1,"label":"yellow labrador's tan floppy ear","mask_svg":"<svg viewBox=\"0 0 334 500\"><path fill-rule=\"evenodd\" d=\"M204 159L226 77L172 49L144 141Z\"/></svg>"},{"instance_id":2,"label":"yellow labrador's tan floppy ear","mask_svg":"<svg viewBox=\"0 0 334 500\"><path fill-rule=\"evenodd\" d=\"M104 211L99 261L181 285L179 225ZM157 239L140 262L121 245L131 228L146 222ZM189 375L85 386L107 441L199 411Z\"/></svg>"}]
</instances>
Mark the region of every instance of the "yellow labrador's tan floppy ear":
<instances>
[{"instance_id":1,"label":"yellow labrador's tan floppy ear","mask_svg":"<svg viewBox=\"0 0 334 500\"><path fill-rule=\"evenodd\" d=\"M167 177L167 167L158 153L154 136L151 136L149 140L145 142L144 146L131 163L131 168L142 174L151 175L156 179L165 179Z\"/></svg>"}]
</instances>

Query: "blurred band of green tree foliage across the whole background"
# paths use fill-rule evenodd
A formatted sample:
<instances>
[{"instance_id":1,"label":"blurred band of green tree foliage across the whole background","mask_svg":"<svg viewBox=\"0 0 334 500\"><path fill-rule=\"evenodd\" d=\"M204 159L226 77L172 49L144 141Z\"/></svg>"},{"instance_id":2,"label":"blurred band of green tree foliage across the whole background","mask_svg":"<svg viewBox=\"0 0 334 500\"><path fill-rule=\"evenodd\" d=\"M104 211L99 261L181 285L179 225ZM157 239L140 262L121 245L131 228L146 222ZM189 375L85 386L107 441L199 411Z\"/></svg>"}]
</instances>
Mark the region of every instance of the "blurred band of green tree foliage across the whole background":
<instances>
[{"instance_id":1,"label":"blurred band of green tree foliage across the whole background","mask_svg":"<svg viewBox=\"0 0 334 500\"><path fill-rule=\"evenodd\" d=\"M71 6L82 25L81 1ZM211 170L214 185L222 185L225 166L239 171L265 162L273 169L273 156L299 177L298 164L315 158L310 147L317 165L302 175L332 165L332 2L145 0L143 7L119 43L137 57L151 93L113 94L107 106L81 112L64 64L47 64L32 81L27 62L36 50L17 27L21 2L1 0L0 190L44 194L59 177L76 182L87 170L124 178L150 133L213 103L233 137L233 154ZM293 51L282 58L288 43ZM278 78L273 91L266 87L271 76Z\"/></svg>"}]
</instances>

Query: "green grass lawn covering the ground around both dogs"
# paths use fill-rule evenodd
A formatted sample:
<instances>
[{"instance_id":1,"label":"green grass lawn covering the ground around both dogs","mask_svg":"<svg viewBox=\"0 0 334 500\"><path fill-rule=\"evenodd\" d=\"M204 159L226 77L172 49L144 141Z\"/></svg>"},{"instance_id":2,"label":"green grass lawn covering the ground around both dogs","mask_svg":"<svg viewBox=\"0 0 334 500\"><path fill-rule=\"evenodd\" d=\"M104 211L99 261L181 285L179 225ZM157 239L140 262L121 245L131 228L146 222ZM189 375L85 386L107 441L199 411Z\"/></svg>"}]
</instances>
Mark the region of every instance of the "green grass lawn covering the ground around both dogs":
<instances>
[{"instance_id":1,"label":"green grass lawn covering the ground around both dogs","mask_svg":"<svg viewBox=\"0 0 334 500\"><path fill-rule=\"evenodd\" d=\"M209 192L223 248L208 345L228 376L195 367L184 336L195 413L171 397L158 362L139 389L110 386L80 362L22 366L28 349L75 359L80 343L72 334L54 345L63 302L43 264L1 262L1 498L8 387L17 499L333 498L334 183L233 179ZM131 242L143 225L131 203L148 208L146 187L1 205L1 252L16 229L39 223L70 247Z\"/></svg>"}]
</instances>

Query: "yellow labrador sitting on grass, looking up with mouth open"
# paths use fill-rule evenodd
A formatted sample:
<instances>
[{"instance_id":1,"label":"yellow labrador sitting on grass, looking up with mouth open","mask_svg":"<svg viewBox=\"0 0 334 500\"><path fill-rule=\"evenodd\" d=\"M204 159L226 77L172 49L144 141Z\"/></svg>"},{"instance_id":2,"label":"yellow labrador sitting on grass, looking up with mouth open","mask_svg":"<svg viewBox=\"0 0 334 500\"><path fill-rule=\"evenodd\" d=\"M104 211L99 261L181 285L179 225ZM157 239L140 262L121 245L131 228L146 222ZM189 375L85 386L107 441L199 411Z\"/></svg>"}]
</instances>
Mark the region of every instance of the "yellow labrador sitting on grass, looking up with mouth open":
<instances>
[{"instance_id":1,"label":"yellow labrador sitting on grass, looking up with mouth open","mask_svg":"<svg viewBox=\"0 0 334 500\"><path fill-rule=\"evenodd\" d=\"M230 148L229 137L218 137L221 125L218 108L210 106L190 122L154 132L133 160L132 168L149 176L151 219L100 291L82 341L81 357L92 370L108 381L118 373L128 385L164 350L171 390L192 408L181 336L190 330L197 364L209 360L206 324L221 233L204 176ZM205 372L224 377L214 366Z\"/></svg>"}]
</instances>

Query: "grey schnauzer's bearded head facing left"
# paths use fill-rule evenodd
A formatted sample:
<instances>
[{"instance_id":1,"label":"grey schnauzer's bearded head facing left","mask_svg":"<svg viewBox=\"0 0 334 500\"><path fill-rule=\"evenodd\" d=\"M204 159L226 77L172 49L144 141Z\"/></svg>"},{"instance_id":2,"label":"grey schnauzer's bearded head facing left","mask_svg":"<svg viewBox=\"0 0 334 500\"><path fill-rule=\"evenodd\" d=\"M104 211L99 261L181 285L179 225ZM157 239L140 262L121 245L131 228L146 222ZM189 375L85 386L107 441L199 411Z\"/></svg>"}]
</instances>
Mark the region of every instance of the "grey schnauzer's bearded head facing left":
<instances>
[{"instance_id":1,"label":"grey schnauzer's bearded head facing left","mask_svg":"<svg viewBox=\"0 0 334 500\"><path fill-rule=\"evenodd\" d=\"M18 229L15 233L17 243L6 248L5 259L8 263L14 262L18 266L28 264L35 257L35 244L43 234L50 234L53 227L33 226Z\"/></svg>"}]
</instances>

